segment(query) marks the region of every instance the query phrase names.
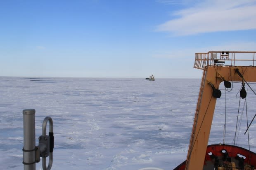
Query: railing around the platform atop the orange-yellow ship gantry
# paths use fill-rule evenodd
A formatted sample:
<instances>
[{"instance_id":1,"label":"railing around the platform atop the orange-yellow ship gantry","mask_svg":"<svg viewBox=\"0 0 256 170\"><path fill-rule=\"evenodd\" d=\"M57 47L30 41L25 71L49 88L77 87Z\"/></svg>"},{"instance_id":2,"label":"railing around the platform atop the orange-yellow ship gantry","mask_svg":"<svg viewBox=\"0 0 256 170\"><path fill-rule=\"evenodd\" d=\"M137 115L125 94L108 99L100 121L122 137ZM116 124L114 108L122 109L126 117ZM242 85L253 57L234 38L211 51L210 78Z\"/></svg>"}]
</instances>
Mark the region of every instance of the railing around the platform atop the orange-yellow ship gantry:
<instances>
[{"instance_id":1,"label":"railing around the platform atop the orange-yellow ship gantry","mask_svg":"<svg viewBox=\"0 0 256 170\"><path fill-rule=\"evenodd\" d=\"M209 51L195 54L194 68L204 70L205 66L211 65L255 66L256 51Z\"/></svg>"}]
</instances>

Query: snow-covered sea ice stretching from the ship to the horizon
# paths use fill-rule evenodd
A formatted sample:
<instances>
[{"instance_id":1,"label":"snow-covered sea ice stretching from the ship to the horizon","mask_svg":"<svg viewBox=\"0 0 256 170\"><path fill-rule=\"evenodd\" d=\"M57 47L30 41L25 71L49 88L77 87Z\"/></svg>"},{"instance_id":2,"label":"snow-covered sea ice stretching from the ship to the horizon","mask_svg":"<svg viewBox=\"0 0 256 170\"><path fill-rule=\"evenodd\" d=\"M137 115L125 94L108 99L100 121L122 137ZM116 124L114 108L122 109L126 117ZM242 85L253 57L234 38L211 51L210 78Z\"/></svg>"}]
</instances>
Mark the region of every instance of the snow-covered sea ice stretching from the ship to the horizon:
<instances>
[{"instance_id":1,"label":"snow-covered sea ice stretching from the ship to the horizon","mask_svg":"<svg viewBox=\"0 0 256 170\"><path fill-rule=\"evenodd\" d=\"M33 108L36 144L45 116L53 119L52 170L171 170L186 159L199 85L200 79L0 77L0 169L23 169L22 110ZM237 92L226 92L233 96L226 100L227 127L232 127L227 129L228 144L235 133ZM223 142L224 93L217 100L220 107L209 144ZM253 95L247 94L249 121L256 113ZM244 108L244 100L240 107ZM239 122L237 145L247 148L245 113ZM252 151L255 132L252 123ZM36 170L42 170L41 162Z\"/></svg>"}]
</instances>

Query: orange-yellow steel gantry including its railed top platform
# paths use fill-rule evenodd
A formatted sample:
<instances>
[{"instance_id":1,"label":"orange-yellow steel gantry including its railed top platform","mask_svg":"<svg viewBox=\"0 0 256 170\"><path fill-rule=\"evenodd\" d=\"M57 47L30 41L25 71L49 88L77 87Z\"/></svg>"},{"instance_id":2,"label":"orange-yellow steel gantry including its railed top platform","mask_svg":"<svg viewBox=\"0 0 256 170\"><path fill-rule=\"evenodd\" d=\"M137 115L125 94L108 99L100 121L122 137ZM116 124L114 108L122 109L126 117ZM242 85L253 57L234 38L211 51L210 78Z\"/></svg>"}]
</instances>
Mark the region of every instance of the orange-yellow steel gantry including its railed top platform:
<instances>
[{"instance_id":1,"label":"orange-yellow steel gantry including its railed top platform","mask_svg":"<svg viewBox=\"0 0 256 170\"><path fill-rule=\"evenodd\" d=\"M256 51L209 51L196 53L194 68L204 70L187 153L186 170L202 170L208 145L216 98L213 87L221 82L256 82ZM245 66L246 65L246 66Z\"/></svg>"}]
</instances>

